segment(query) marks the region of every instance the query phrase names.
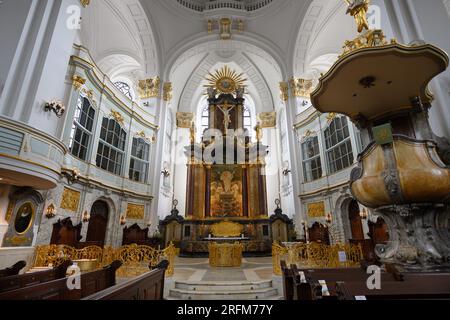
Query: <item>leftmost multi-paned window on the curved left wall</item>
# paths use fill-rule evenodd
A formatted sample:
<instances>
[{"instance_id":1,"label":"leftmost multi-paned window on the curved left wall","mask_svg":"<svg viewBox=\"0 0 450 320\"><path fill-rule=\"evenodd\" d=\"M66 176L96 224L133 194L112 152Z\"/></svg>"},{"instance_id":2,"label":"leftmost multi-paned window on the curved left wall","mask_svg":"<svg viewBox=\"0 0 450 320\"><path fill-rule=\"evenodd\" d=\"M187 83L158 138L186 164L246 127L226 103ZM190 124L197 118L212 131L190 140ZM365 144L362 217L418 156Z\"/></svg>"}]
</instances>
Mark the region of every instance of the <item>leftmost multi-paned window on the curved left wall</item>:
<instances>
[{"instance_id":1,"label":"leftmost multi-paned window on the curved left wall","mask_svg":"<svg viewBox=\"0 0 450 320\"><path fill-rule=\"evenodd\" d=\"M86 161L94 125L95 109L88 98L78 98L75 117L70 132L69 149L72 155Z\"/></svg>"}]
</instances>

